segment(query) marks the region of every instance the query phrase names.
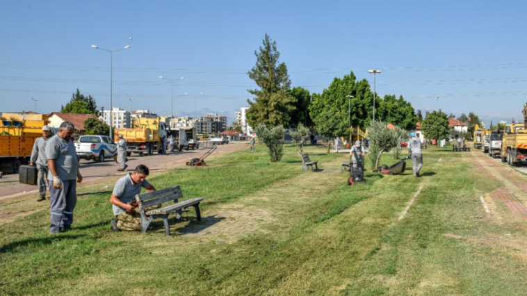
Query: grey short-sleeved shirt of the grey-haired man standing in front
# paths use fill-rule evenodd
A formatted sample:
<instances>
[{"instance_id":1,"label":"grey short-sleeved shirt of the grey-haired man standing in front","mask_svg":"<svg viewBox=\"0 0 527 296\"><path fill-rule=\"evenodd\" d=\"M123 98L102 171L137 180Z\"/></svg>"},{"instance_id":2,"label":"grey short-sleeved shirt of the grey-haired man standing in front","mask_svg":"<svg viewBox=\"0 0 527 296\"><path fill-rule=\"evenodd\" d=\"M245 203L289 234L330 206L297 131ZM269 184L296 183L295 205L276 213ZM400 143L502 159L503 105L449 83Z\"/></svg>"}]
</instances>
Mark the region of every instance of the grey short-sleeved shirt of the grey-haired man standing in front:
<instances>
[{"instance_id":1,"label":"grey short-sleeved shirt of the grey-haired man standing in front","mask_svg":"<svg viewBox=\"0 0 527 296\"><path fill-rule=\"evenodd\" d=\"M76 180L79 158L72 140L66 142L58 135L49 138L46 144L46 157L55 160L55 171L60 180ZM53 174L47 176L49 181L53 180Z\"/></svg>"}]
</instances>

